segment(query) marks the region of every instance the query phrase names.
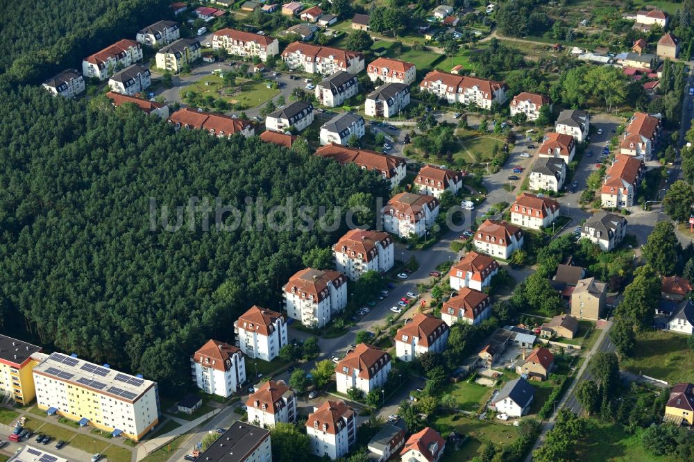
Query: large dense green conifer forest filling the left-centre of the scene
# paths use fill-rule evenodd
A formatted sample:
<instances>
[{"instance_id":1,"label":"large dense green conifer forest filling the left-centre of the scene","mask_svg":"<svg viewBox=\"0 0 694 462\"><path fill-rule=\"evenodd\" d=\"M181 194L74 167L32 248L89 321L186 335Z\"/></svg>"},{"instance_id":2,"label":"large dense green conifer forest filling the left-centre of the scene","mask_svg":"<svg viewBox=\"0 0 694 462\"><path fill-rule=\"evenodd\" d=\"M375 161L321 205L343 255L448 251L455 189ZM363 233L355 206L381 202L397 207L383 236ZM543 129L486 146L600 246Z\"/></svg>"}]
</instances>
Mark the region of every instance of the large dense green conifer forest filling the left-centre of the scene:
<instances>
[{"instance_id":1,"label":"large dense green conifer forest filling the left-centre of the scene","mask_svg":"<svg viewBox=\"0 0 694 462\"><path fill-rule=\"evenodd\" d=\"M187 384L189 354L205 339L232 339L242 311L278 309L302 255L346 228L204 231L196 217L193 231L153 232L150 198L219 197L241 209L247 197L266 209L291 198L315 218L317 206L329 214L357 191L388 194L356 166L257 137L176 133L100 99L22 87L0 92L0 105L1 332L143 373L164 390Z\"/></svg>"}]
</instances>

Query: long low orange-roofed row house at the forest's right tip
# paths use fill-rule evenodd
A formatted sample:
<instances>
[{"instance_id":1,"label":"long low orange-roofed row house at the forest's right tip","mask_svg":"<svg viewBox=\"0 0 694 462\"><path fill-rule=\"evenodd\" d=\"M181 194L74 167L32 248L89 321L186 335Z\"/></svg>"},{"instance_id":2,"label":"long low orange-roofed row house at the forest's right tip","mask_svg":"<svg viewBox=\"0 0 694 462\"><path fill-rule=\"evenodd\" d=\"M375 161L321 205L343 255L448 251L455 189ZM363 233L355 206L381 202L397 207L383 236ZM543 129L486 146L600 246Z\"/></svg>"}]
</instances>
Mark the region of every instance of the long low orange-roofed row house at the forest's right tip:
<instances>
[{"instance_id":1,"label":"long low orange-roofed row house at the forest's right tip","mask_svg":"<svg viewBox=\"0 0 694 462\"><path fill-rule=\"evenodd\" d=\"M343 165L357 164L362 170L375 171L381 178L390 182L391 189L400 185L407 174L407 163L402 157L369 149L349 148L331 143L318 148L315 154L334 159Z\"/></svg>"}]
</instances>

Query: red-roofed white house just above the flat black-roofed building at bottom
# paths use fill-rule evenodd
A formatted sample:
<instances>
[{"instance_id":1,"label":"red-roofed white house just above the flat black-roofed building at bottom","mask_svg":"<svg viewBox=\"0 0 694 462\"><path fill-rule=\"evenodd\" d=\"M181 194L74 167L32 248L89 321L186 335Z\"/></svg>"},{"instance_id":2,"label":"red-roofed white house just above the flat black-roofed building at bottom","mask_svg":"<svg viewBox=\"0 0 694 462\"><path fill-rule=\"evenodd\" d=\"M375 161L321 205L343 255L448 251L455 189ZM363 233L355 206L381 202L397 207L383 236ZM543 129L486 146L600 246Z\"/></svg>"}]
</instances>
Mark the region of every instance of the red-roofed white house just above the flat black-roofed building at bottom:
<instances>
[{"instance_id":1,"label":"red-roofed white house just above the flat black-roofed building at bottom","mask_svg":"<svg viewBox=\"0 0 694 462\"><path fill-rule=\"evenodd\" d=\"M262 382L246 400L248 422L258 427L274 427L277 422L296 422L296 394L285 382Z\"/></svg>"}]
</instances>

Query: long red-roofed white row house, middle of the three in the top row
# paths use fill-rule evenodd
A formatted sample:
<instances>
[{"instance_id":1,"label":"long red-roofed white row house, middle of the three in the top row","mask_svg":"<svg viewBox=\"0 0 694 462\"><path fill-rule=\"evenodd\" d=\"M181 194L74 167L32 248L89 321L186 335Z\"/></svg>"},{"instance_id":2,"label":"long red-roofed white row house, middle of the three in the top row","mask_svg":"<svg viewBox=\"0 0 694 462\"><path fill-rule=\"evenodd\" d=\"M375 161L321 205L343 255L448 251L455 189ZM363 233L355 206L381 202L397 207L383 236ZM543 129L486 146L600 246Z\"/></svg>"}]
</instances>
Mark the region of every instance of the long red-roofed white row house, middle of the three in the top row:
<instances>
[{"instance_id":1,"label":"long red-roofed white row house, middle of the three in the top row","mask_svg":"<svg viewBox=\"0 0 694 462\"><path fill-rule=\"evenodd\" d=\"M345 71L359 74L364 70L364 55L357 51L330 48L302 42L292 42L282 51L282 61L289 69L298 69L309 74L335 74Z\"/></svg>"}]
</instances>

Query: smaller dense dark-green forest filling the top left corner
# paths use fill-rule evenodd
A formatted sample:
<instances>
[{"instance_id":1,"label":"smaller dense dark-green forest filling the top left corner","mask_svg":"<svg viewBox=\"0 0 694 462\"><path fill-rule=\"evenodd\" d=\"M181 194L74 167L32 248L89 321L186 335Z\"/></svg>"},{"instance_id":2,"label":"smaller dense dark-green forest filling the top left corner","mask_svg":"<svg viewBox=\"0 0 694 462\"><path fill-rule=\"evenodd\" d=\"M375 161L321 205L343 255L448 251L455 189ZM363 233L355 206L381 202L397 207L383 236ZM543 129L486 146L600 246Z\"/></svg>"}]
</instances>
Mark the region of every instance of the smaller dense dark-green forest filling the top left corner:
<instances>
[{"instance_id":1,"label":"smaller dense dark-green forest filling the top left corner","mask_svg":"<svg viewBox=\"0 0 694 462\"><path fill-rule=\"evenodd\" d=\"M168 0L31 0L0 8L0 74L40 83L171 15Z\"/></svg>"}]
</instances>

